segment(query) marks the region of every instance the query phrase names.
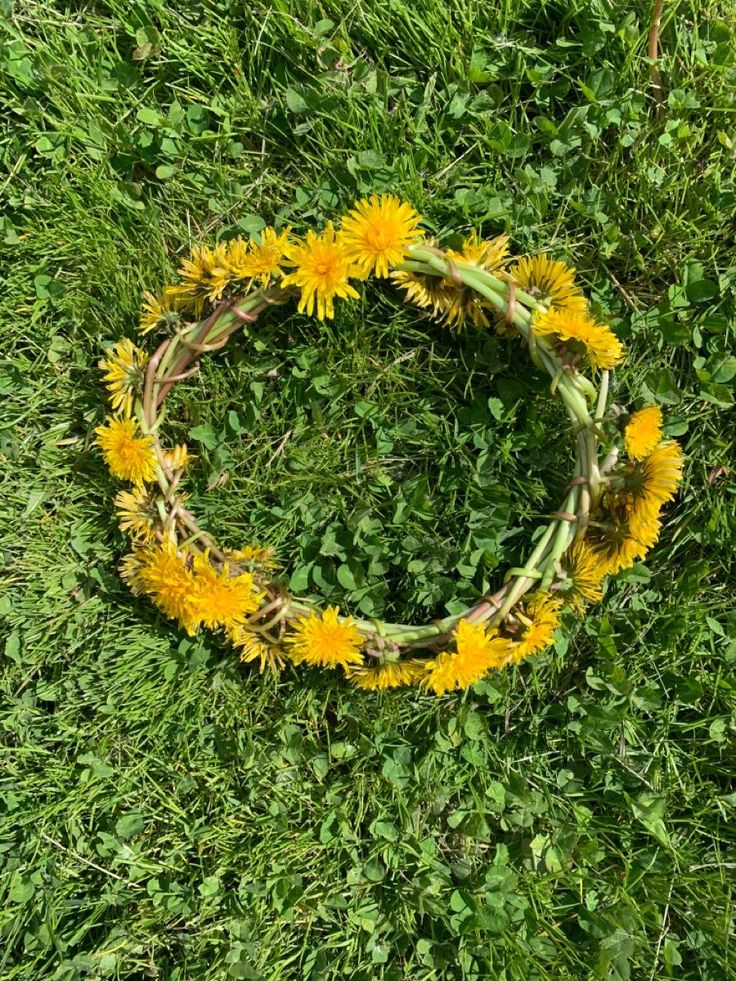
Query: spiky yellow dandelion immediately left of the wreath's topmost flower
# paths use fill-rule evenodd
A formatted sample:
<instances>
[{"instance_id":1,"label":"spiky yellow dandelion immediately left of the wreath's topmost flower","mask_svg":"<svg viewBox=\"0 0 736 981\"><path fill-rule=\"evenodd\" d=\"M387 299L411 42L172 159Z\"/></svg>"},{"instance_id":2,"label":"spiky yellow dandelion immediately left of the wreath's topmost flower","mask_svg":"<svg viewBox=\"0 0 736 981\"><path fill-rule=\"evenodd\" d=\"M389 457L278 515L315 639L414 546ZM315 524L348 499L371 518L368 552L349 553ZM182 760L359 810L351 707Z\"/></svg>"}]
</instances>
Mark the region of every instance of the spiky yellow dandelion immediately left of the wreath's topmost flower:
<instances>
[{"instance_id":1,"label":"spiky yellow dandelion immediately left of the wreath's topmost flower","mask_svg":"<svg viewBox=\"0 0 736 981\"><path fill-rule=\"evenodd\" d=\"M287 249L289 264L294 272L281 280L282 286L298 286L301 290L299 312L311 317L317 311L317 319L335 316L335 297L345 300L358 298L357 291L348 282L356 274L356 267L348 259L345 246L328 221L321 235L307 232L304 243L290 245Z\"/></svg>"}]
</instances>

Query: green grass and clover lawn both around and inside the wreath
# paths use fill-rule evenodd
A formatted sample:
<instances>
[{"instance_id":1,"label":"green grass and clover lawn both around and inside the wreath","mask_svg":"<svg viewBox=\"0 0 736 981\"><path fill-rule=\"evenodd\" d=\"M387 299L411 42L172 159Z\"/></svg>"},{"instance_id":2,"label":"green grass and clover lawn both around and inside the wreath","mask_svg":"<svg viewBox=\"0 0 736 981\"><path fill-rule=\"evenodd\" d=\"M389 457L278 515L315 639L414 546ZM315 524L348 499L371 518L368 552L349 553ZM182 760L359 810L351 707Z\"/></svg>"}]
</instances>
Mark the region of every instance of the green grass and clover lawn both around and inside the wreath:
<instances>
[{"instance_id":1,"label":"green grass and clover lawn both around and inside the wreath","mask_svg":"<svg viewBox=\"0 0 736 981\"><path fill-rule=\"evenodd\" d=\"M661 106L638 0L0 12L0 978L736 977L732 6L665 4ZM442 700L183 639L116 575L92 442L104 344L190 244L385 190L572 261L630 352L614 400L688 454L646 566ZM224 540L425 620L557 506L546 391L378 286L264 318L169 433Z\"/></svg>"}]
</instances>

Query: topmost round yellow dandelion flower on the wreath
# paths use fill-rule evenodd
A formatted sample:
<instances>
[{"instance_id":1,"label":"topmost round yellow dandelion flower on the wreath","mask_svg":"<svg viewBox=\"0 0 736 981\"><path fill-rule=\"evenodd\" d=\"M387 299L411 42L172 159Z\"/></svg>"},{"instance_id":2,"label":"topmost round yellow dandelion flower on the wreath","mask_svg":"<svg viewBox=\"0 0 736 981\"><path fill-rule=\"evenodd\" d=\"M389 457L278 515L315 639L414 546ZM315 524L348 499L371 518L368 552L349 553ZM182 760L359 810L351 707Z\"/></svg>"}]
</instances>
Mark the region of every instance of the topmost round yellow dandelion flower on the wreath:
<instances>
[{"instance_id":1,"label":"topmost round yellow dandelion flower on the wreath","mask_svg":"<svg viewBox=\"0 0 736 981\"><path fill-rule=\"evenodd\" d=\"M359 270L361 279L372 272L388 276L391 266L406 257L407 249L421 238L422 219L406 201L393 194L357 201L342 220L345 253Z\"/></svg>"}]
</instances>

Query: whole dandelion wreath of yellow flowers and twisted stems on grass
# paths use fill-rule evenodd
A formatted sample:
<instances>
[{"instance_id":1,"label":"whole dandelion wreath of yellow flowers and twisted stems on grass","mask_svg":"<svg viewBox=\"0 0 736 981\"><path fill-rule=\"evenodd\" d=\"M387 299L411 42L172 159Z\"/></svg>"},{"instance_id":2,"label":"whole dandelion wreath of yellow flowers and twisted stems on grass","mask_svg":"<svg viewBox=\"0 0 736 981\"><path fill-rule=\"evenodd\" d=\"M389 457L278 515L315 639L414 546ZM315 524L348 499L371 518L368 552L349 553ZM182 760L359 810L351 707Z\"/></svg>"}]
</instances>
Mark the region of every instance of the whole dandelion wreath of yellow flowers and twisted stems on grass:
<instances>
[{"instance_id":1,"label":"whole dandelion wreath of yellow flowers and twisted stems on grass","mask_svg":"<svg viewBox=\"0 0 736 981\"><path fill-rule=\"evenodd\" d=\"M219 631L261 671L296 664L342 668L352 684L383 690L418 684L442 695L544 650L562 612L602 596L606 576L641 559L657 540L660 512L682 475L676 442L662 436L657 406L607 407L610 373L624 349L591 314L574 270L545 255L512 260L508 238L473 234L460 251L426 238L421 219L392 195L361 200L335 228L297 238L266 228L250 241L197 246L179 282L145 294L141 333L163 339L152 354L130 340L100 363L113 415L97 428L115 499L131 539L121 574L188 634ZM523 566L493 595L426 625L384 623L292 596L273 553L231 549L200 527L182 495L190 455L163 440L164 404L200 358L225 347L272 307L334 316L371 276L453 328L466 323L515 334L549 373L572 424L575 462L558 511L534 536ZM586 374L587 372L587 374Z\"/></svg>"}]
</instances>

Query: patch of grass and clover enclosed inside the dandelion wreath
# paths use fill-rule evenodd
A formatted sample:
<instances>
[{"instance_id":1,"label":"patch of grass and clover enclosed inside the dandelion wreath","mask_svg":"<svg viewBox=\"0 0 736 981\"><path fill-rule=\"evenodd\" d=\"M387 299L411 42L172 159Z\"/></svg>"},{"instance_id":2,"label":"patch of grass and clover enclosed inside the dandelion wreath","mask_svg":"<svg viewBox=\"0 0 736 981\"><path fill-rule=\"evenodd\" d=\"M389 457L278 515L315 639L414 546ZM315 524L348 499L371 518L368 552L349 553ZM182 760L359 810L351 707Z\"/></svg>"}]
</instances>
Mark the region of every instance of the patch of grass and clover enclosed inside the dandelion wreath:
<instances>
[{"instance_id":1,"label":"patch of grass and clover enclosed inside the dandelion wreath","mask_svg":"<svg viewBox=\"0 0 736 981\"><path fill-rule=\"evenodd\" d=\"M521 562L569 479L549 380L516 338L438 330L371 288L318 324L278 310L170 396L219 540L276 547L299 595L431 620Z\"/></svg>"}]
</instances>

